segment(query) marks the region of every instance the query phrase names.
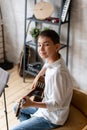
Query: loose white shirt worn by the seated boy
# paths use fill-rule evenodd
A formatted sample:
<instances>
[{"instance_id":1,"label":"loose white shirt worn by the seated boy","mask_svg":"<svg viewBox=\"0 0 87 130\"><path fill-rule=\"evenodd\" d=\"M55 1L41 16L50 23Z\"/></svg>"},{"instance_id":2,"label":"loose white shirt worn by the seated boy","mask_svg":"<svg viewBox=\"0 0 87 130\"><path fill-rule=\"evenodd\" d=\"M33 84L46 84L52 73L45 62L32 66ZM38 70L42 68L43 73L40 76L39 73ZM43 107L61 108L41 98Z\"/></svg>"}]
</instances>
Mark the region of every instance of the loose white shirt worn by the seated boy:
<instances>
[{"instance_id":1,"label":"loose white shirt worn by the seated boy","mask_svg":"<svg viewBox=\"0 0 87 130\"><path fill-rule=\"evenodd\" d=\"M52 64L45 63L45 89L43 102L47 108L39 108L34 116L44 117L57 125L63 125L69 114L72 98L72 78L62 58Z\"/></svg>"}]
</instances>

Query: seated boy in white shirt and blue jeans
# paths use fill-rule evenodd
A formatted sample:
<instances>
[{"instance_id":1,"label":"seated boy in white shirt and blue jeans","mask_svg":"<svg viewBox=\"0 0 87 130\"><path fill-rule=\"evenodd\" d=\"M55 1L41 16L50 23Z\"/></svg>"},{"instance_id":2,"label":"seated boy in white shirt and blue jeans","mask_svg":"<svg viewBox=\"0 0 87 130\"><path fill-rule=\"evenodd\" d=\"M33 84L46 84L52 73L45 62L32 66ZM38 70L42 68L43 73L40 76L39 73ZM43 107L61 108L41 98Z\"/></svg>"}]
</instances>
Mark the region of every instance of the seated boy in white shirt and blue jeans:
<instances>
[{"instance_id":1,"label":"seated boy in white shirt and blue jeans","mask_svg":"<svg viewBox=\"0 0 87 130\"><path fill-rule=\"evenodd\" d=\"M42 31L38 37L38 53L46 60L36 76L32 88L45 74L45 89L42 102L31 101L27 96L21 108L17 126L11 130L51 130L62 126L67 120L72 98L72 78L58 53L60 39L54 30ZM17 107L17 106L16 106Z\"/></svg>"}]
</instances>

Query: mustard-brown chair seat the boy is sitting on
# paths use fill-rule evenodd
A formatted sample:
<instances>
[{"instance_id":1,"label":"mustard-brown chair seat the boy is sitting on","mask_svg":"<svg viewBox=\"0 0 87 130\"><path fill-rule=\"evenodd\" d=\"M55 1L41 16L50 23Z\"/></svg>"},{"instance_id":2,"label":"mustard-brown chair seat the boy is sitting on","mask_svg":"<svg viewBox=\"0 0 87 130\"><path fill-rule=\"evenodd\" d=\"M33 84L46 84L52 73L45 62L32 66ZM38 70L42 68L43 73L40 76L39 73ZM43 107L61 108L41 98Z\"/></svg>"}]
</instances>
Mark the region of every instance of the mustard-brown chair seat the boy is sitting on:
<instances>
[{"instance_id":1,"label":"mustard-brown chair seat the boy is sitting on","mask_svg":"<svg viewBox=\"0 0 87 130\"><path fill-rule=\"evenodd\" d=\"M54 130L82 130L87 124L87 118L73 105L70 106L70 114L64 126Z\"/></svg>"}]
</instances>

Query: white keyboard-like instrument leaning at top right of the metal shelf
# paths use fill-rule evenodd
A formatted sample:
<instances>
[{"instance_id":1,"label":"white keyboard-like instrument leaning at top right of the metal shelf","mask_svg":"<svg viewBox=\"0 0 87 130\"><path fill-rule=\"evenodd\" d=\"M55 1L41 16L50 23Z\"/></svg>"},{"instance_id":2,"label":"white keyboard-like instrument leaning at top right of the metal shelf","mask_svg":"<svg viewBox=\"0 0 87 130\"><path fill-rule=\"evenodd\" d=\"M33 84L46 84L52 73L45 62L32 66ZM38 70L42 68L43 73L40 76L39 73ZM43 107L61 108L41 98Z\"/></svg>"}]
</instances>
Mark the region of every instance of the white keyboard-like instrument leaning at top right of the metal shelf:
<instances>
[{"instance_id":1,"label":"white keyboard-like instrument leaning at top right of the metal shelf","mask_svg":"<svg viewBox=\"0 0 87 130\"><path fill-rule=\"evenodd\" d=\"M70 1L71 0L65 0L63 11L62 11L62 16L61 16L62 22L65 21L65 18L66 18L66 15L67 15L67 11L68 11L68 8L69 8L69 5L70 5Z\"/></svg>"}]
</instances>

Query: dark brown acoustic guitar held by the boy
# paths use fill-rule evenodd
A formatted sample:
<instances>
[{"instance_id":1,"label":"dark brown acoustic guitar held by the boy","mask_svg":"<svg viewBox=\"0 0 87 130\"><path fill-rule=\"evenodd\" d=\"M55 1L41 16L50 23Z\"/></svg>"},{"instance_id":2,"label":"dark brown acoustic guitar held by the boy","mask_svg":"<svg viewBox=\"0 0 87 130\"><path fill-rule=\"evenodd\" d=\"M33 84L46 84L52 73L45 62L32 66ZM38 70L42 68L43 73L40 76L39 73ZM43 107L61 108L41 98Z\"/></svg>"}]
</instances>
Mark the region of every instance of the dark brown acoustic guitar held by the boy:
<instances>
[{"instance_id":1,"label":"dark brown acoustic guitar held by the boy","mask_svg":"<svg viewBox=\"0 0 87 130\"><path fill-rule=\"evenodd\" d=\"M38 84L35 89L31 90L26 96L29 98L33 96L33 101L41 102L43 99L43 93L45 88L45 81L44 77L40 77L38 80ZM26 102L23 99L20 100L18 107L16 109L16 117L19 117L20 109L23 103Z\"/></svg>"}]
</instances>

